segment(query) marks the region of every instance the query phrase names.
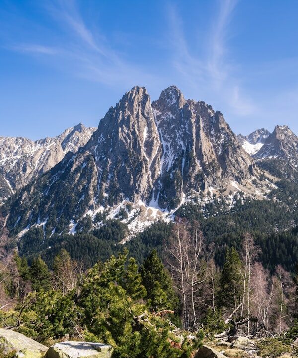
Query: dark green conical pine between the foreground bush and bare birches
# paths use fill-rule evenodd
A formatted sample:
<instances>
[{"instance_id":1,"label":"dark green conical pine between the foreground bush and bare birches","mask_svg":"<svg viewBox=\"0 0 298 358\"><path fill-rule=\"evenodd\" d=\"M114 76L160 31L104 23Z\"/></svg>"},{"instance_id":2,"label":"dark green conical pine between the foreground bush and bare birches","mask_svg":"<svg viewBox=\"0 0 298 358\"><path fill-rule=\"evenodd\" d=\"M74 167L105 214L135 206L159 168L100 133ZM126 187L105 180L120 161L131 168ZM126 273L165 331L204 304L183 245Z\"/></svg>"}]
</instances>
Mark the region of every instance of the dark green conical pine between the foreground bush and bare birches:
<instances>
[{"instance_id":1,"label":"dark green conical pine between the foreground bush and bare birches","mask_svg":"<svg viewBox=\"0 0 298 358\"><path fill-rule=\"evenodd\" d=\"M164 268L157 251L153 250L140 269L142 283L146 288L149 305L155 311L177 310L179 300L173 288L172 279Z\"/></svg>"}]
</instances>

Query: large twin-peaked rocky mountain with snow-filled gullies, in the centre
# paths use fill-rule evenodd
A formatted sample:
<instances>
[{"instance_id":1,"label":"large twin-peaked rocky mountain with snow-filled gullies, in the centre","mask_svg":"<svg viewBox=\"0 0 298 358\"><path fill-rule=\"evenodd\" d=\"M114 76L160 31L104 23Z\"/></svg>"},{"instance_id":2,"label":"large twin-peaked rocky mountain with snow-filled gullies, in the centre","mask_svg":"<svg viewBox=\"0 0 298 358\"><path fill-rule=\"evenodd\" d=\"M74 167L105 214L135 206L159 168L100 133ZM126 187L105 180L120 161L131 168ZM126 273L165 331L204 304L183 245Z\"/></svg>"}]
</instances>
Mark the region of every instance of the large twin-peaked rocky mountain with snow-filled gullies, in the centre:
<instances>
[{"instance_id":1,"label":"large twin-peaked rocky mountain with snow-filled gullies, in the centre","mask_svg":"<svg viewBox=\"0 0 298 358\"><path fill-rule=\"evenodd\" d=\"M261 198L271 187L263 175L221 112L185 99L175 86L151 103L136 86L84 147L21 189L0 214L19 236L31 227L44 235L75 232L86 214L94 222L103 211L114 217L127 210L133 225L137 216L156 220L185 200L204 206L214 197L229 205L235 195Z\"/></svg>"}]
</instances>

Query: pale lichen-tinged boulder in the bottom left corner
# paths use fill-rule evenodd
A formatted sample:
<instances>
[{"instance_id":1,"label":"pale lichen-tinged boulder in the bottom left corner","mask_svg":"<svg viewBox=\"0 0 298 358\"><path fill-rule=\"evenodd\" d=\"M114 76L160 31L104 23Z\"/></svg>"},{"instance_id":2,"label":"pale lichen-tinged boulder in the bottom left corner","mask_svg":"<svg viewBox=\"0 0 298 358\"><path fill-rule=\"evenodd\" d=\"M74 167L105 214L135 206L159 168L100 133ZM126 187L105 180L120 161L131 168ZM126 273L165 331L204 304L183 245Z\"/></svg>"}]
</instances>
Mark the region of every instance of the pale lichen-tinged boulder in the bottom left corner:
<instances>
[{"instance_id":1,"label":"pale lichen-tinged boulder in the bottom left corner","mask_svg":"<svg viewBox=\"0 0 298 358\"><path fill-rule=\"evenodd\" d=\"M4 354L16 351L19 358L40 358L48 347L21 333L0 328L0 350Z\"/></svg>"}]
</instances>

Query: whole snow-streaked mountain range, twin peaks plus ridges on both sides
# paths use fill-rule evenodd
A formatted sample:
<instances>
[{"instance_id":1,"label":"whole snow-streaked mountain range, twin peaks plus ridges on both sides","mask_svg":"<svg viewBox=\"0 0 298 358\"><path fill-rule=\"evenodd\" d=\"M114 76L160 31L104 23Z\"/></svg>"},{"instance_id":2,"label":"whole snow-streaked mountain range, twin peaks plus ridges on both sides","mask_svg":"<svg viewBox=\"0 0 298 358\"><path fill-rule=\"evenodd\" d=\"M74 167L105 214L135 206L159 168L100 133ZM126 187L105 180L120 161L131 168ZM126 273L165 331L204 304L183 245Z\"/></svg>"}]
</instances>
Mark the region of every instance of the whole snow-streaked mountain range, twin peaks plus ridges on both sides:
<instances>
[{"instance_id":1,"label":"whole snow-streaked mountain range, twin peaks plus ridges on both sides","mask_svg":"<svg viewBox=\"0 0 298 358\"><path fill-rule=\"evenodd\" d=\"M0 213L18 237L34 227L47 236L74 233L86 215L100 225L103 212L125 211L136 231L188 201L204 210L212 201L226 208L237 198L267 198L280 173L267 162L276 158L296 170L298 138L287 126L236 136L221 112L177 87L151 102L136 86L96 131L80 124L37 142L2 138L2 201L17 192Z\"/></svg>"}]
</instances>

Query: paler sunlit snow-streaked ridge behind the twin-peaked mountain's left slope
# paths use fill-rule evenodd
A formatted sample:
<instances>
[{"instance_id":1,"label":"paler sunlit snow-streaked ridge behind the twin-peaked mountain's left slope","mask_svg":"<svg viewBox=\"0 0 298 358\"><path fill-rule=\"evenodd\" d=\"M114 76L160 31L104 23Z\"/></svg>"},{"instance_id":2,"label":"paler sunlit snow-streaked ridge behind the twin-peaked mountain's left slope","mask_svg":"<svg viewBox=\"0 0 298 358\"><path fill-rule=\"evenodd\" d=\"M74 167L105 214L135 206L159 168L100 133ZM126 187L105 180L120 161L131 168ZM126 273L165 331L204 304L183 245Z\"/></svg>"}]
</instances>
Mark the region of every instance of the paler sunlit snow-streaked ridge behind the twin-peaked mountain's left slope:
<instances>
[{"instance_id":1,"label":"paler sunlit snow-streaked ridge behind the twin-peaked mountain's left slope","mask_svg":"<svg viewBox=\"0 0 298 358\"><path fill-rule=\"evenodd\" d=\"M67 152L85 145L94 130L80 123L57 137L37 141L0 137L0 204L32 178L53 168Z\"/></svg>"}]
</instances>

